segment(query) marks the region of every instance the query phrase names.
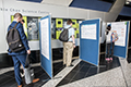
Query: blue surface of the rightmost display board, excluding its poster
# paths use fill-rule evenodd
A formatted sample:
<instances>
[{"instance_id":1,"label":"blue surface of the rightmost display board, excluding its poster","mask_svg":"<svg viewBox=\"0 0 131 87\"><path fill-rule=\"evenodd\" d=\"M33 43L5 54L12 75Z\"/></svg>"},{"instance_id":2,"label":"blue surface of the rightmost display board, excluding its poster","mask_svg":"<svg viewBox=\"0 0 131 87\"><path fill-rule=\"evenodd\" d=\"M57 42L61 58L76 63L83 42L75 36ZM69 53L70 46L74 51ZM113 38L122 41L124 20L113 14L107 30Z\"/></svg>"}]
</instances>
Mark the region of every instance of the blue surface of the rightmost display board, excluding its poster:
<instances>
[{"instance_id":1,"label":"blue surface of the rightmost display board, excluding its poster","mask_svg":"<svg viewBox=\"0 0 131 87\"><path fill-rule=\"evenodd\" d=\"M122 23L122 22L121 22ZM130 22L127 22L127 28L126 28L126 45L124 46L117 46L115 45L114 48L114 55L116 57L121 57L121 58L127 58L128 54L128 40L129 40L129 29L130 29ZM112 23L111 23L112 25Z\"/></svg>"}]
</instances>

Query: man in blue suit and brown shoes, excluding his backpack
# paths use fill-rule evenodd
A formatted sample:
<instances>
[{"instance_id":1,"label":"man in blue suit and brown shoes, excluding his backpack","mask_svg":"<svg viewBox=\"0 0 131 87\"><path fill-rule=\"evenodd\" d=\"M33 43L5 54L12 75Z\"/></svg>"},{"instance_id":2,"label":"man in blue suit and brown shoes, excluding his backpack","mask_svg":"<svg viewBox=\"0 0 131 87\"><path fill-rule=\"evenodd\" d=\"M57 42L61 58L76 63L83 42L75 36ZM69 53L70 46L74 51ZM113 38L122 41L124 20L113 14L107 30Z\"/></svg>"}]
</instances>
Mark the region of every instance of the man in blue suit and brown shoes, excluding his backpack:
<instances>
[{"instance_id":1,"label":"man in blue suit and brown shoes, excluding his backpack","mask_svg":"<svg viewBox=\"0 0 131 87\"><path fill-rule=\"evenodd\" d=\"M26 39L26 36L24 34L24 29L23 29L23 25L20 23L22 22L23 16L21 13L15 13L14 14L14 20L13 22L10 24L8 32L11 29L10 27L14 27L14 25L16 23L19 23L16 25L16 29L19 30L21 40L25 47L25 49L19 51L19 52L11 52L10 48L9 48L9 54L12 55L13 62L14 62L14 74L15 74L15 79L17 83L17 87L22 87L22 77L20 75L20 66L21 64L23 65L23 67L25 67L25 61L26 61L26 53L31 54L31 50L28 47L28 41ZM38 82L39 79L34 79L33 83Z\"/></svg>"}]
</instances>

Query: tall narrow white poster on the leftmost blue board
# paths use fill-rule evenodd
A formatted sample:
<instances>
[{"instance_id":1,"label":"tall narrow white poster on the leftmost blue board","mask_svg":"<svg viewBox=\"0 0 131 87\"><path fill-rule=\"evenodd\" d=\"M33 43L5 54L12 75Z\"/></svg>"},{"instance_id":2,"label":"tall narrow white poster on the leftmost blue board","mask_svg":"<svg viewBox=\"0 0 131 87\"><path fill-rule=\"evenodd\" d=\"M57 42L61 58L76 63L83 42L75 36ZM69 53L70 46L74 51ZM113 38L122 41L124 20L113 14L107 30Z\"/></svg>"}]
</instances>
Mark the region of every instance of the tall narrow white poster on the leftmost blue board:
<instances>
[{"instance_id":1,"label":"tall narrow white poster on the leftmost blue board","mask_svg":"<svg viewBox=\"0 0 131 87\"><path fill-rule=\"evenodd\" d=\"M41 54L49 60L49 18L40 21Z\"/></svg>"}]
</instances>

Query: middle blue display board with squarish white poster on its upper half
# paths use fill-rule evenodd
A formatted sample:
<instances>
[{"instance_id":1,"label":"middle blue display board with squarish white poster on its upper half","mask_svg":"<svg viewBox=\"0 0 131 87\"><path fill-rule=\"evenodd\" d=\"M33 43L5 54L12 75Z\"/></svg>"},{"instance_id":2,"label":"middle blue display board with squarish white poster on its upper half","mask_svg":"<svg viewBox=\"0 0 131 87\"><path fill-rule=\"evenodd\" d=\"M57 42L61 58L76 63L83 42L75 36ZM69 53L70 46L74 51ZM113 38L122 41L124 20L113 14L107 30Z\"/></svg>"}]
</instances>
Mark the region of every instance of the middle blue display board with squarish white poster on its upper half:
<instances>
[{"instance_id":1,"label":"middle blue display board with squarish white poster on its upper half","mask_svg":"<svg viewBox=\"0 0 131 87\"><path fill-rule=\"evenodd\" d=\"M80 24L80 59L98 66L100 20L83 21Z\"/></svg>"}]
</instances>

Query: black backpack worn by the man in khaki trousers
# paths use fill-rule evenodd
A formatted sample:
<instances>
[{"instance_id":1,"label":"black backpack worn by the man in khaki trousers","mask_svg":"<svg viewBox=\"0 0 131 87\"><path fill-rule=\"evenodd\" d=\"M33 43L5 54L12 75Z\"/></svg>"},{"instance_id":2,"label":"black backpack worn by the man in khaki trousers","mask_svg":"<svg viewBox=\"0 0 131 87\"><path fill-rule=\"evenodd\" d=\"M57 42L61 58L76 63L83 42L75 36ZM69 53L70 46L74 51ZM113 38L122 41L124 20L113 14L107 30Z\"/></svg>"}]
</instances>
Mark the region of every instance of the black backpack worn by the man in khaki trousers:
<instances>
[{"instance_id":1,"label":"black backpack worn by the man in khaki trousers","mask_svg":"<svg viewBox=\"0 0 131 87\"><path fill-rule=\"evenodd\" d=\"M63 41L63 42L67 42L69 40L69 28L68 29L63 29L61 32L59 40Z\"/></svg>"}]
</instances>

